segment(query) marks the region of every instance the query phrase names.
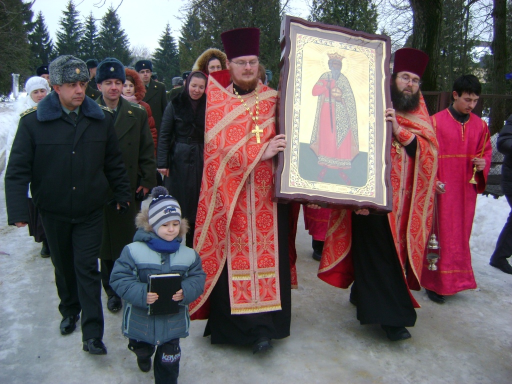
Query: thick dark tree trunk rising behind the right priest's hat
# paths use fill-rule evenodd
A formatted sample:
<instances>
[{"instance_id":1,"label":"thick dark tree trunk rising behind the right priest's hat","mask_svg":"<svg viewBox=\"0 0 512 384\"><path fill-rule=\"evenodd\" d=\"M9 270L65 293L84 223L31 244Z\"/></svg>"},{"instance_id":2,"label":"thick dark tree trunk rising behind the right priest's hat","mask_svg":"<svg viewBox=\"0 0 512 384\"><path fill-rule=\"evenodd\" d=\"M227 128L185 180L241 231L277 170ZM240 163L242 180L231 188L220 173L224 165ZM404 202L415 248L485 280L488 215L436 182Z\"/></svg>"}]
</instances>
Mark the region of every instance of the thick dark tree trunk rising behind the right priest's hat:
<instances>
[{"instance_id":1,"label":"thick dark tree trunk rising behind the right priest's hat","mask_svg":"<svg viewBox=\"0 0 512 384\"><path fill-rule=\"evenodd\" d=\"M412 48L429 55L429 65L423 74L424 91L437 89L437 72L439 69L439 33L441 31L441 0L410 0L413 9Z\"/></svg>"}]
</instances>

